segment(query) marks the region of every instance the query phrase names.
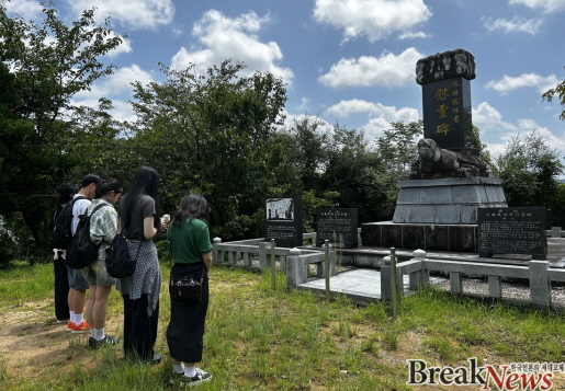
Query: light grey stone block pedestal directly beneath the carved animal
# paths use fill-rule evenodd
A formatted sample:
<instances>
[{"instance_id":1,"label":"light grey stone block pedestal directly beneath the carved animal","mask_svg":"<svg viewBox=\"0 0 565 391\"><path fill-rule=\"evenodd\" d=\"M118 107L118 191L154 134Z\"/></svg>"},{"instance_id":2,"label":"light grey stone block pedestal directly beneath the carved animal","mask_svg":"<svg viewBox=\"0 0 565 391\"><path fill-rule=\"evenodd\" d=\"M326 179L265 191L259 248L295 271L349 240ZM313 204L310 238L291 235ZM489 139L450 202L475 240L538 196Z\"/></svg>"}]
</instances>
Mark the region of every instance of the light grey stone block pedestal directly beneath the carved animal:
<instances>
[{"instance_id":1,"label":"light grey stone block pedestal directly beneath the carved animal","mask_svg":"<svg viewBox=\"0 0 565 391\"><path fill-rule=\"evenodd\" d=\"M498 177L400 181L398 187L397 223L476 225L477 208L508 206Z\"/></svg>"}]
</instances>

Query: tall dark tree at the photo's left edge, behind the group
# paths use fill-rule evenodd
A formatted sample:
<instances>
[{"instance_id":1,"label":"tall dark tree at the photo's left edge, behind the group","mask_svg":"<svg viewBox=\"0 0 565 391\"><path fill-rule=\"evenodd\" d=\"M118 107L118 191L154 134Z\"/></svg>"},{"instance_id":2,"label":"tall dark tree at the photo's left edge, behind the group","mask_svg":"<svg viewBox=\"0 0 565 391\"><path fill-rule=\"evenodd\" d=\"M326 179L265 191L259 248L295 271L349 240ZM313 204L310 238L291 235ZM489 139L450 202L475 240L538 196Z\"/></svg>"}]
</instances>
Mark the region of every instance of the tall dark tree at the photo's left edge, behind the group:
<instances>
[{"instance_id":1,"label":"tall dark tree at the photo's left edge, behind the group","mask_svg":"<svg viewBox=\"0 0 565 391\"><path fill-rule=\"evenodd\" d=\"M87 90L113 66L99 57L122 39L82 12L70 26L54 4L44 8L43 25L10 18L0 3L0 215L4 223L22 219L38 248L45 242L54 208L52 195L78 157L69 153L65 113L74 94ZM12 227L13 228L13 227Z\"/></svg>"}]
</instances>

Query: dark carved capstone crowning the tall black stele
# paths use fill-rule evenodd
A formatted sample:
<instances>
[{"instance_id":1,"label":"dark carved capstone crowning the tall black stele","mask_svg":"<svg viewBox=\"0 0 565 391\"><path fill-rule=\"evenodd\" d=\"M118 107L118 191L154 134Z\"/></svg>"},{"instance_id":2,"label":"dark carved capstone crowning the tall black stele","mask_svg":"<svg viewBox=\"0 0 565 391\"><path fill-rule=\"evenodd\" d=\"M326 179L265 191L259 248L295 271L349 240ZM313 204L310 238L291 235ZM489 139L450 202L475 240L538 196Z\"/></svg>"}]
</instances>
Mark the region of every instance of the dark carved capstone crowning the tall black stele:
<instances>
[{"instance_id":1,"label":"dark carved capstone crowning the tall black stele","mask_svg":"<svg viewBox=\"0 0 565 391\"><path fill-rule=\"evenodd\" d=\"M416 64L416 82L420 85L457 76L475 79L475 57L464 49L438 53Z\"/></svg>"}]
</instances>

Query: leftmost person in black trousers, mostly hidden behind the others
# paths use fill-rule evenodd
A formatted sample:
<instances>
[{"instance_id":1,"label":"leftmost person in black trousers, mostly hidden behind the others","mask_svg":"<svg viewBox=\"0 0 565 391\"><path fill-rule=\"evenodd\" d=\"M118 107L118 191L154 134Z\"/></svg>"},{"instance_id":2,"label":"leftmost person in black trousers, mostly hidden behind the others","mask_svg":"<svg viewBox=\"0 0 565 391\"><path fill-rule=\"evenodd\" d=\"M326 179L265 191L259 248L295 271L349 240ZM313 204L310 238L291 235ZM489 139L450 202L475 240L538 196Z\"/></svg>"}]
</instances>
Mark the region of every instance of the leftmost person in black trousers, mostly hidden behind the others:
<instances>
[{"instance_id":1,"label":"leftmost person in black trousers, mostly hidden behind the others","mask_svg":"<svg viewBox=\"0 0 565 391\"><path fill-rule=\"evenodd\" d=\"M63 184L58 188L59 200L53 219L54 229L57 218L61 214L65 205L72 200L72 196L77 193L77 187L71 184ZM70 225L69 225L70 228ZM64 230L65 227L61 227ZM60 245L64 246L64 245ZM67 276L67 267L65 266L65 250L54 248L53 252L53 272L55 275L55 319L57 323L68 323L69 321L69 277Z\"/></svg>"}]
</instances>

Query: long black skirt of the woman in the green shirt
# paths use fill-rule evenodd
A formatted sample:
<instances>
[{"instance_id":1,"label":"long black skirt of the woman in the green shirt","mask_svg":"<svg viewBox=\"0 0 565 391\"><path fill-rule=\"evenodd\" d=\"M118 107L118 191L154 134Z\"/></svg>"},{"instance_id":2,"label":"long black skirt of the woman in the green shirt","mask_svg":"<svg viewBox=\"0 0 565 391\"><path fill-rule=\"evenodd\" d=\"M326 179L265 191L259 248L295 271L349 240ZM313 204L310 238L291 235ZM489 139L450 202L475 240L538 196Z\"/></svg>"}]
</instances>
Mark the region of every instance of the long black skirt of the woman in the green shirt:
<instances>
[{"instance_id":1,"label":"long black skirt of the woman in the green shirt","mask_svg":"<svg viewBox=\"0 0 565 391\"><path fill-rule=\"evenodd\" d=\"M167 343L171 357L182 363L200 363L208 309L208 276L204 263L176 264L171 268L171 276L173 279L190 276L195 280L203 277L202 300L171 300L171 320L167 327Z\"/></svg>"}]
</instances>

